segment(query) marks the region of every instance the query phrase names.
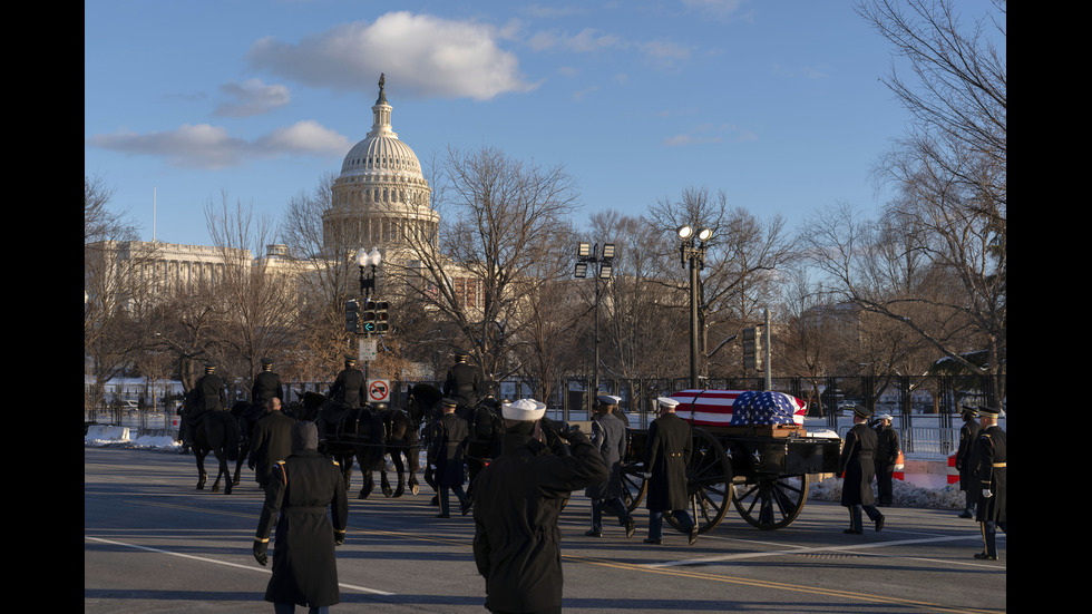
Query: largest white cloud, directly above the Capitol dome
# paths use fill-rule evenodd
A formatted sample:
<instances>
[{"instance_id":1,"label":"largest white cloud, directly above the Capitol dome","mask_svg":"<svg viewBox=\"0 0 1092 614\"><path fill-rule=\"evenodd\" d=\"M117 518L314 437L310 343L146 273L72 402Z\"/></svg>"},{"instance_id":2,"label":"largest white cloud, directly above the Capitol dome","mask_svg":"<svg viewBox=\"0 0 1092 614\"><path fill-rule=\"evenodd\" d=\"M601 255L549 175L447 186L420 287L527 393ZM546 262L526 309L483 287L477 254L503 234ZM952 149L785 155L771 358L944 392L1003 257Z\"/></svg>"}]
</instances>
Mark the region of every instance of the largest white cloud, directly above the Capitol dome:
<instances>
[{"instance_id":1,"label":"largest white cloud, directly above the Capitol dome","mask_svg":"<svg viewBox=\"0 0 1092 614\"><path fill-rule=\"evenodd\" d=\"M247 59L253 68L311 87L357 91L383 72L399 96L487 100L535 87L519 75L516 56L497 45L511 27L399 11L296 45L267 37L251 46Z\"/></svg>"}]
</instances>

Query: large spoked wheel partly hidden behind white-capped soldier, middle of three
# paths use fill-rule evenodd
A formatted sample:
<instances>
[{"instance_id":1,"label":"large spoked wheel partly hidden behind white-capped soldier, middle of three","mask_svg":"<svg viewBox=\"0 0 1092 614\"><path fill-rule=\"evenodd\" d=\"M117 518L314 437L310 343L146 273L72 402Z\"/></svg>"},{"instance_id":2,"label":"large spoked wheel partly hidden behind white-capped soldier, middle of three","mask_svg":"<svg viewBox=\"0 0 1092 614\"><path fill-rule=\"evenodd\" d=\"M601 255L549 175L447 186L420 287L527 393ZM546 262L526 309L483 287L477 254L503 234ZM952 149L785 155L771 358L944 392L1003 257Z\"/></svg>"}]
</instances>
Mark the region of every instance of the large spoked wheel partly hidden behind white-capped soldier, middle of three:
<instances>
[{"instance_id":1,"label":"large spoked wheel partly hidden behind white-capped soldier, middle of three","mask_svg":"<svg viewBox=\"0 0 1092 614\"><path fill-rule=\"evenodd\" d=\"M704 429L693 431L686 479L690 513L698 523L698 533L711 530L724 518L732 501L732 464L720 441ZM682 524L673 515L664 513L663 516L671 526L682 530Z\"/></svg>"}]
</instances>

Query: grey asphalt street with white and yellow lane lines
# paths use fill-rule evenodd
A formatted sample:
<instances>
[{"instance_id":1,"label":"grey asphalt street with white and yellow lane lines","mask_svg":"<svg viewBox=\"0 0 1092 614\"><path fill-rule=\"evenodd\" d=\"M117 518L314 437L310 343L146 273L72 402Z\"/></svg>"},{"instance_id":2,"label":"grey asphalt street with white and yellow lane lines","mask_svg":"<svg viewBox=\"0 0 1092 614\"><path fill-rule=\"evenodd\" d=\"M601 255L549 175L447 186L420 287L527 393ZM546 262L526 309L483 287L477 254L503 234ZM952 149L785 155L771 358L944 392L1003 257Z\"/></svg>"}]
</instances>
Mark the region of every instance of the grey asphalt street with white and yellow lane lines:
<instances>
[{"instance_id":1,"label":"grey asphalt street with white and yellow lane lines","mask_svg":"<svg viewBox=\"0 0 1092 614\"><path fill-rule=\"evenodd\" d=\"M272 612L269 567L251 555L262 506L253 472L231 495L196 490L193 456L120 448L84 450L86 613ZM361 484L359 471L350 487ZM333 612L485 613L485 584L471 553L474 520L436 518L432 491L350 499L338 548L340 605ZM575 493L562 515L567 613L1005 612L1006 536L1001 561L981 552L978 525L953 510L883 508L886 528L846 535L845 508L809 501L778 530L730 510L694 546L682 534L661 546L620 527L585 537L588 499ZM667 527L670 530L670 527ZM273 547L275 550L275 536ZM299 611L305 611L300 608Z\"/></svg>"}]
</instances>

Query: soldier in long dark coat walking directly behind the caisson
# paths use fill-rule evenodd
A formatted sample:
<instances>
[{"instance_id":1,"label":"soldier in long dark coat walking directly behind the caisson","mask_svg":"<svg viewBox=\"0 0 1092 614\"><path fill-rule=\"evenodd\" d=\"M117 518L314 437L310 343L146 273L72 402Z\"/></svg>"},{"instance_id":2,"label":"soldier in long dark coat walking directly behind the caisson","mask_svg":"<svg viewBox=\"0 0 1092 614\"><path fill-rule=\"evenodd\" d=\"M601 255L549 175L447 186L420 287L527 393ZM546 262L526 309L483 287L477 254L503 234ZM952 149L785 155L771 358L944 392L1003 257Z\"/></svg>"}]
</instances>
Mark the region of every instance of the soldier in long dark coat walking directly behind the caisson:
<instances>
[{"instance_id":1,"label":"soldier in long dark coat walking directly behind the caisson","mask_svg":"<svg viewBox=\"0 0 1092 614\"><path fill-rule=\"evenodd\" d=\"M876 431L868 426L872 415L866 407L854 408L854 428L846 433L846 441L838 462L838 475L841 476L841 505L849 508L849 528L845 533L860 534L861 510L868 514L868 519L876 523L876 530L884 528L884 515L876 509L872 496L872 477L876 472Z\"/></svg>"}]
</instances>

